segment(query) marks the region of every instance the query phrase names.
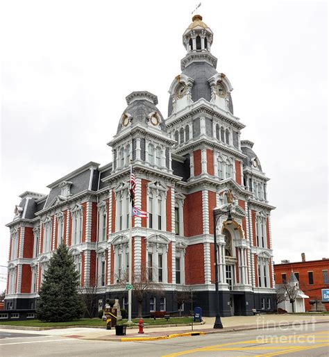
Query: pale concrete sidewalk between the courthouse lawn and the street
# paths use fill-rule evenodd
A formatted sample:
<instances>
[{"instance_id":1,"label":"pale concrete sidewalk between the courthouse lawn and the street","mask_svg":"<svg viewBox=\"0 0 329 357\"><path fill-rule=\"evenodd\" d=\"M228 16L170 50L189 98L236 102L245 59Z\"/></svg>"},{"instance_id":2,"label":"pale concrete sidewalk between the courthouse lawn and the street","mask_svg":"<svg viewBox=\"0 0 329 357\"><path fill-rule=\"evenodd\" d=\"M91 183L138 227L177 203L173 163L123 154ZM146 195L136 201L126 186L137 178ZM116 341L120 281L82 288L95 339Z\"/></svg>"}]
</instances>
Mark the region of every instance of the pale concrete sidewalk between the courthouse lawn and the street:
<instances>
[{"instance_id":1,"label":"pale concrete sidewalk between the courthouse lawn and the street","mask_svg":"<svg viewBox=\"0 0 329 357\"><path fill-rule=\"evenodd\" d=\"M251 329L267 329L274 326L300 326L301 324L317 324L329 322L328 315L258 315L258 316L233 316L222 317L223 329L213 329L214 317L203 317L205 324L194 326L179 327L155 327L153 329L144 329L144 334L139 334L138 329L127 329L126 336L115 335L115 329L92 329L76 327L70 329L54 329L46 331L26 331L36 335L57 335L67 338L78 338L82 340L99 341L136 341L136 340L164 340L167 338L176 338L189 335L204 335L209 333L225 333L230 331L243 331ZM0 326L0 331L3 326ZM311 328L311 327L310 327ZM17 332L15 329L3 331Z\"/></svg>"}]
</instances>

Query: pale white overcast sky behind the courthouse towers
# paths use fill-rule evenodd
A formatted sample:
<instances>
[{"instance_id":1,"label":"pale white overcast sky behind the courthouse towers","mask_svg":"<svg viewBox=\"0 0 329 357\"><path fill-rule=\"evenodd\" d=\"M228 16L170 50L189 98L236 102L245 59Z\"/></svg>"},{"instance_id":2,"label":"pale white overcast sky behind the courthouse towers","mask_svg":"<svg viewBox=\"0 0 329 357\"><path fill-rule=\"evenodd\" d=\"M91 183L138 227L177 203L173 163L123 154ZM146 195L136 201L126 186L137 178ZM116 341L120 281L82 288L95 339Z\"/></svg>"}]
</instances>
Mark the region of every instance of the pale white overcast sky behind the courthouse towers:
<instances>
[{"instance_id":1,"label":"pale white overcast sky behind the courthouse towers","mask_svg":"<svg viewBox=\"0 0 329 357\"><path fill-rule=\"evenodd\" d=\"M127 94L156 94L167 117L198 1L2 4L0 265L18 195L47 194L90 160L109 163ZM233 85L242 139L271 178L275 262L328 256L327 3L203 0L199 13Z\"/></svg>"}]
</instances>

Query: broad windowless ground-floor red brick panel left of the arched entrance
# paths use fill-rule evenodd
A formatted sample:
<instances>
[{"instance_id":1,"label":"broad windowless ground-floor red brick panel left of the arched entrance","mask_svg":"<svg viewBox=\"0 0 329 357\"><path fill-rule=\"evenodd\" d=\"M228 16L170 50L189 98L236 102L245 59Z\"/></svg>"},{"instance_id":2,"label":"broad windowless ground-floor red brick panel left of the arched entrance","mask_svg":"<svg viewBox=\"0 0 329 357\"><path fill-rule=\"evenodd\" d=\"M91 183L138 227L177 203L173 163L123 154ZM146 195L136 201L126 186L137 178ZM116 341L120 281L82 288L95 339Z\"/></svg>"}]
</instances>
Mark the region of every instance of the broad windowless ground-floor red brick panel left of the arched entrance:
<instances>
[{"instance_id":1,"label":"broad windowless ground-floor red brick panel left of the arched entrance","mask_svg":"<svg viewBox=\"0 0 329 357\"><path fill-rule=\"evenodd\" d=\"M186 248L185 283L203 284L205 282L205 266L203 254L203 243L189 245Z\"/></svg>"}]
</instances>

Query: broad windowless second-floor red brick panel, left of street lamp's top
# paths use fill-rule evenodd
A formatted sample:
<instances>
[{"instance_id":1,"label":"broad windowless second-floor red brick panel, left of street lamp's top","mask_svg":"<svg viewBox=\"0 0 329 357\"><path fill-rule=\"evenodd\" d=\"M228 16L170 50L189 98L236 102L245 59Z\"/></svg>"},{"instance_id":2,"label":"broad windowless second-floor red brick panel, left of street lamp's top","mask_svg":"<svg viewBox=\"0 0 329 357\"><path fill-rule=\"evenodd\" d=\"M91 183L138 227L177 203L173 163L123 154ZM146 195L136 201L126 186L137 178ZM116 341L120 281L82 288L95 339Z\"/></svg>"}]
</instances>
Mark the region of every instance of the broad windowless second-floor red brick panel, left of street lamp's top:
<instances>
[{"instance_id":1,"label":"broad windowless second-floor red brick panel, left of street lamp's top","mask_svg":"<svg viewBox=\"0 0 329 357\"><path fill-rule=\"evenodd\" d=\"M203 233L202 192L187 194L184 201L184 234L186 237Z\"/></svg>"}]
</instances>

